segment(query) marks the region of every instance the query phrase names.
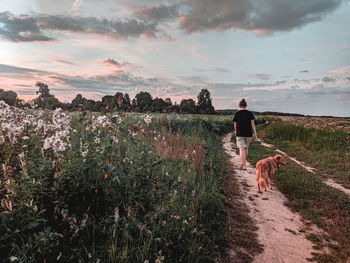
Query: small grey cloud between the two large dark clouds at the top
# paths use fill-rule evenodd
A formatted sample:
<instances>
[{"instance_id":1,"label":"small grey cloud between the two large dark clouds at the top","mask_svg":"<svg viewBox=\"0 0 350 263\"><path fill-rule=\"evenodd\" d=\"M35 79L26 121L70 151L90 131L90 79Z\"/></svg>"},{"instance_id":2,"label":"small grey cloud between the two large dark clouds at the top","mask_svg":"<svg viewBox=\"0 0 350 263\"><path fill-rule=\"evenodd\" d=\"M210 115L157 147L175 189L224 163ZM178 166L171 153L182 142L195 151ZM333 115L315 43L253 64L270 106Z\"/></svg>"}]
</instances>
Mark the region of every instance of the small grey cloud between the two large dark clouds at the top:
<instances>
[{"instance_id":1,"label":"small grey cloud between the two large dark clouds at the top","mask_svg":"<svg viewBox=\"0 0 350 263\"><path fill-rule=\"evenodd\" d=\"M145 6L135 11L135 15L144 20L164 21L178 16L176 5Z\"/></svg>"}]
</instances>

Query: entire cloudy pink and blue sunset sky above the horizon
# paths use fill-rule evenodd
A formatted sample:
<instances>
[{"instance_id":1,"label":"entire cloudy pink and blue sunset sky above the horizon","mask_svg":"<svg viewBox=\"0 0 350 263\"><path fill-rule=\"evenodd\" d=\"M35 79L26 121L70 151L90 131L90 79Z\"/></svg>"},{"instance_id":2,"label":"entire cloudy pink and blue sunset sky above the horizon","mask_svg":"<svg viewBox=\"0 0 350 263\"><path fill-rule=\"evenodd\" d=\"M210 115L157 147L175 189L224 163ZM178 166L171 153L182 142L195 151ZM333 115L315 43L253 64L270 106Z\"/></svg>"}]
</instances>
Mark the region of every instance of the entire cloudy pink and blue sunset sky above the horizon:
<instances>
[{"instance_id":1,"label":"entire cloudy pink and blue sunset sky above the horizon","mask_svg":"<svg viewBox=\"0 0 350 263\"><path fill-rule=\"evenodd\" d=\"M348 0L1 0L0 89L350 117Z\"/></svg>"}]
</instances>

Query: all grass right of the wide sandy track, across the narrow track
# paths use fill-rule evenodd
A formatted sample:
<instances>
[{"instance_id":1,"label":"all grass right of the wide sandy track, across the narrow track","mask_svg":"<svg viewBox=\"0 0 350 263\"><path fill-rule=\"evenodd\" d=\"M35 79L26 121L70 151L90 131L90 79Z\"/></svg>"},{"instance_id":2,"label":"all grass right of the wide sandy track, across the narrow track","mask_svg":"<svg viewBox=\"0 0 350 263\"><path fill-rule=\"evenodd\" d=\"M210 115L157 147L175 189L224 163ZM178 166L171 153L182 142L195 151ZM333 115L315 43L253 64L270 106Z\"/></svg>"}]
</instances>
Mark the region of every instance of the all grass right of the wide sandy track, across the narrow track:
<instances>
[{"instance_id":1,"label":"all grass right of the wide sandy track, across the narrow track","mask_svg":"<svg viewBox=\"0 0 350 263\"><path fill-rule=\"evenodd\" d=\"M289 155L316 168L312 174L287 160L287 166L277 171L278 189L287 197L287 205L301 213L306 225L315 224L323 233L308 234L314 242L313 260L317 262L347 262L350 257L350 198L322 181L337 180L349 187L350 134L344 129L303 125L266 118L267 125L258 128L259 137ZM249 161L273 156L275 149L252 143Z\"/></svg>"}]
</instances>

